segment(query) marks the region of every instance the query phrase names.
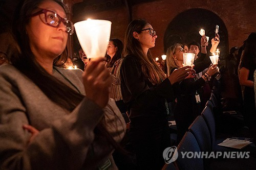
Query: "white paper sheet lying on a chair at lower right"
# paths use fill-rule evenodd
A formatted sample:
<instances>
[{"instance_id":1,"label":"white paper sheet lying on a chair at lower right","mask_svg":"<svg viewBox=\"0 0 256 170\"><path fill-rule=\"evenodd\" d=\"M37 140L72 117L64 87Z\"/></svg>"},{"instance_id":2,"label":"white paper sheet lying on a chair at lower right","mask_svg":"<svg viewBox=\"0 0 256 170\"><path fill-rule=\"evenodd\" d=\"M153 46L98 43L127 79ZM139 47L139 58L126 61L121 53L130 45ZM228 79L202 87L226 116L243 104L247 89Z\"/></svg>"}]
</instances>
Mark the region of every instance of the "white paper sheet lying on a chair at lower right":
<instances>
[{"instance_id":1,"label":"white paper sheet lying on a chair at lower right","mask_svg":"<svg viewBox=\"0 0 256 170\"><path fill-rule=\"evenodd\" d=\"M226 140L219 143L218 145L223 146L223 147L242 149L250 143L252 143L252 142L250 142L248 140L227 138Z\"/></svg>"}]
</instances>

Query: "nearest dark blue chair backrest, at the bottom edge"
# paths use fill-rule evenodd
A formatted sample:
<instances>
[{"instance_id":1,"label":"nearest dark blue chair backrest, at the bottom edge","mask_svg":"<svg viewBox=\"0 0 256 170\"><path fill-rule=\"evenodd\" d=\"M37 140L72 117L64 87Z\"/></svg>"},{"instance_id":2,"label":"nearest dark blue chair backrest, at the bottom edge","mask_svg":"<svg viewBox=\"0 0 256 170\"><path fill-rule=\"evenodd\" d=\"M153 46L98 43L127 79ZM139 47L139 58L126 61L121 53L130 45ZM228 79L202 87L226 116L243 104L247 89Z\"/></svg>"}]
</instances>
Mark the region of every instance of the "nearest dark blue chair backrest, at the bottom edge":
<instances>
[{"instance_id":1,"label":"nearest dark blue chair backrest, at the bottom edge","mask_svg":"<svg viewBox=\"0 0 256 170\"><path fill-rule=\"evenodd\" d=\"M186 132L183 136L182 140L178 145L178 158L176 160L177 166L182 170L190 170L190 169L204 169L204 163L202 158L195 158L195 153L200 153L200 148L197 143L196 138L191 132ZM182 152L182 153L181 153ZM189 152L188 155L183 155L185 152ZM191 158L192 154L194 154L193 158Z\"/></svg>"}]
</instances>

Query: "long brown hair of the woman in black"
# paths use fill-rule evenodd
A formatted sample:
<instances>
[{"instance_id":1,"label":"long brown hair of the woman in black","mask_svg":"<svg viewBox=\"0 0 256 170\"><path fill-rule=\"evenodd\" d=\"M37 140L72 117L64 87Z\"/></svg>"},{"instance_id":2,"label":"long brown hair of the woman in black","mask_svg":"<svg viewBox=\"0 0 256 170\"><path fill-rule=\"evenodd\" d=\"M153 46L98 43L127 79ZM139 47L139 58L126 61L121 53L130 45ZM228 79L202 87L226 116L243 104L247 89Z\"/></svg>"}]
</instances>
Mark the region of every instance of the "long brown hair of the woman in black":
<instances>
[{"instance_id":1,"label":"long brown hair of the woman in black","mask_svg":"<svg viewBox=\"0 0 256 170\"><path fill-rule=\"evenodd\" d=\"M150 50L148 50L145 56L140 42L133 37L133 32L141 33L140 30L142 30L147 23L149 22L144 19L135 19L129 24L124 37L124 56L135 55L138 57L142 66L143 75L155 85L165 79L164 72L153 60Z\"/></svg>"}]
</instances>

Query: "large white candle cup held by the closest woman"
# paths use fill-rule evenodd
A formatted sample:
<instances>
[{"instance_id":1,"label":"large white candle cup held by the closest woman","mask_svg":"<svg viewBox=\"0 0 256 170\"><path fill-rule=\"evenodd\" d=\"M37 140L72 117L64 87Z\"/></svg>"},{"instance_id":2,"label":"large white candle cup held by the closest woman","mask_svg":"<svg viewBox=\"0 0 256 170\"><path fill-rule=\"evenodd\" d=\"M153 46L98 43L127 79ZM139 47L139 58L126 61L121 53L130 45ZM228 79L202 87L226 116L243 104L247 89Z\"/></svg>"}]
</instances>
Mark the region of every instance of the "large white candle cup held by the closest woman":
<instances>
[{"instance_id":1,"label":"large white candle cup held by the closest woman","mask_svg":"<svg viewBox=\"0 0 256 170\"><path fill-rule=\"evenodd\" d=\"M87 58L105 57L111 33L111 21L88 19L74 24L79 43Z\"/></svg>"}]
</instances>

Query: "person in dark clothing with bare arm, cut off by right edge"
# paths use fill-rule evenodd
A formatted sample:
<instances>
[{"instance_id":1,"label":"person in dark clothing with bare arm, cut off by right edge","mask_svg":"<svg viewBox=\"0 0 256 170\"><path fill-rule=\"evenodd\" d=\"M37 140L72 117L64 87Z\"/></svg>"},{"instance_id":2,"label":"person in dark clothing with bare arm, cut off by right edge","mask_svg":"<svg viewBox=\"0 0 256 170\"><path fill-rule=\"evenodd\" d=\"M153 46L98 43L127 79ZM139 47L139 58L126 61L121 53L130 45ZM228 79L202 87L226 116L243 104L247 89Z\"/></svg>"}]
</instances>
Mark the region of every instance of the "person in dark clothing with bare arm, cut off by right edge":
<instances>
[{"instance_id":1,"label":"person in dark clothing with bare arm, cut off by right edge","mask_svg":"<svg viewBox=\"0 0 256 170\"><path fill-rule=\"evenodd\" d=\"M244 119L256 143L256 108L253 89L253 74L256 69L256 32L251 33L245 40L244 53L239 75L240 85L244 88ZM254 80L255 81L255 80Z\"/></svg>"}]
</instances>

